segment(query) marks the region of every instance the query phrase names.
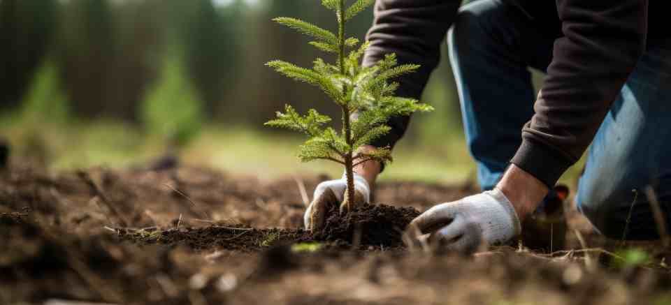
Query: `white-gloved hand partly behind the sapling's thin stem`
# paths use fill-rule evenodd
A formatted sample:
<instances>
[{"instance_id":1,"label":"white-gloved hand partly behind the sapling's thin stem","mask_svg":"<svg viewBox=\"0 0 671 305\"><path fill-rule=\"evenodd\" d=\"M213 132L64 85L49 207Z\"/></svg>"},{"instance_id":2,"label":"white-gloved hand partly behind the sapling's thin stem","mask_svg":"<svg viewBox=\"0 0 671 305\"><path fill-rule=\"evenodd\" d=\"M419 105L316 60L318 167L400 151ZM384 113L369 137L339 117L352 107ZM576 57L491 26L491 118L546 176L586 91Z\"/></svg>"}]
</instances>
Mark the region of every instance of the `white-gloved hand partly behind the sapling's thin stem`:
<instances>
[{"instance_id":1,"label":"white-gloved hand partly behind the sapling's thin stem","mask_svg":"<svg viewBox=\"0 0 671 305\"><path fill-rule=\"evenodd\" d=\"M315 188L315 194L312 195L312 202L305 210L303 221L306 230L322 230L324 221L326 221L326 211L331 206L340 206L345 203L347 190L347 179L345 174L342 178L324 181ZM354 173L354 204L363 204L370 202L370 187L366 179L361 175Z\"/></svg>"}]
</instances>

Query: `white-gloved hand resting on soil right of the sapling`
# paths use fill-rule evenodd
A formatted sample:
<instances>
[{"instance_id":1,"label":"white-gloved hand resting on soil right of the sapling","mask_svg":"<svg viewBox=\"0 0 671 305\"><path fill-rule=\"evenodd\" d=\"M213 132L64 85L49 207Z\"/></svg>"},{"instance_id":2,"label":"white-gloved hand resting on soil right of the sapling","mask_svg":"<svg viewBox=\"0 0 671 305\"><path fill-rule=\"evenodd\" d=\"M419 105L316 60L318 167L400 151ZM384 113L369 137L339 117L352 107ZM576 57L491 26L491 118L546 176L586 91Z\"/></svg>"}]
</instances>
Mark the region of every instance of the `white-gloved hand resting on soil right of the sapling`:
<instances>
[{"instance_id":1,"label":"white-gloved hand resting on soil right of the sapling","mask_svg":"<svg viewBox=\"0 0 671 305\"><path fill-rule=\"evenodd\" d=\"M519 235L520 225L510 201L498 189L438 204L414 218L411 226L431 233L450 250L473 253L483 242L503 244ZM412 228L412 227L411 227Z\"/></svg>"}]
</instances>

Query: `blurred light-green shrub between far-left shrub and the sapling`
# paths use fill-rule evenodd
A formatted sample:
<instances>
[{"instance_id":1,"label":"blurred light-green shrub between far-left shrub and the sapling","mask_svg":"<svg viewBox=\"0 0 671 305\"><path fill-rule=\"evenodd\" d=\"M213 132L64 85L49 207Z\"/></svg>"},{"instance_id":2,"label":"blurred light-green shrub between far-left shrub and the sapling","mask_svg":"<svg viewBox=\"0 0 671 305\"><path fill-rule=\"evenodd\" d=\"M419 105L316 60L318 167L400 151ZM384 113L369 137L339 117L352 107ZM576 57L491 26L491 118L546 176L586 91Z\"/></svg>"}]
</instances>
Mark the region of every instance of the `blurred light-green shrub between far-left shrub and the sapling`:
<instances>
[{"instance_id":1,"label":"blurred light-green shrub between far-left shrub and the sapling","mask_svg":"<svg viewBox=\"0 0 671 305\"><path fill-rule=\"evenodd\" d=\"M159 73L140 104L142 122L148 133L162 137L171 148L180 148L201 130L203 102L179 56L166 54Z\"/></svg>"}]
</instances>

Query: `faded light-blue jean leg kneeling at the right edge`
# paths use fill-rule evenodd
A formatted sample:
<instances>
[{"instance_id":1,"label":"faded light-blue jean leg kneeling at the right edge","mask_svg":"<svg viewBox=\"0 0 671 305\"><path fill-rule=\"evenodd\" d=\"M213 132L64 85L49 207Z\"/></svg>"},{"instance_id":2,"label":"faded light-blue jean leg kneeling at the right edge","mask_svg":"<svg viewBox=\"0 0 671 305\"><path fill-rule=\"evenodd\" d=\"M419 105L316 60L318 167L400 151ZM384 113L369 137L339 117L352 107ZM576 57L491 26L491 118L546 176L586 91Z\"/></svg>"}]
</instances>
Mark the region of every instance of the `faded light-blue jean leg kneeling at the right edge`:
<instances>
[{"instance_id":1,"label":"faded light-blue jean leg kneeling at the right edge","mask_svg":"<svg viewBox=\"0 0 671 305\"><path fill-rule=\"evenodd\" d=\"M647 186L671 228L671 41L648 47L613 103L589 149L576 201L607 237L656 239Z\"/></svg>"}]
</instances>

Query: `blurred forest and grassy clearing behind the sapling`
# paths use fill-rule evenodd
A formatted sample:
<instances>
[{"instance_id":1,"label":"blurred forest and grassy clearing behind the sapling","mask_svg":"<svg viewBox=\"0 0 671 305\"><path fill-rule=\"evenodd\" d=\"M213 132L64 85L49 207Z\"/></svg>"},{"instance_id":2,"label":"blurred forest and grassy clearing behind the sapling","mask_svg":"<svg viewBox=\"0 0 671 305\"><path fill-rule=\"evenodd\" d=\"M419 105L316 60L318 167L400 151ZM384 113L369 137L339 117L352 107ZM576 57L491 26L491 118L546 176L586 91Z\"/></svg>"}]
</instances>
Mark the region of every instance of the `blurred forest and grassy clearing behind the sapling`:
<instances>
[{"instance_id":1,"label":"blurred forest and grassy clearing behind the sapling","mask_svg":"<svg viewBox=\"0 0 671 305\"><path fill-rule=\"evenodd\" d=\"M316 0L0 0L0 136L13 156L58 170L142 165L172 151L261 177L338 175L300 164L301 138L262 125L285 103L338 116L318 89L264 66L324 57L270 22L277 16L335 25ZM349 33L363 38L372 17ZM474 173L443 59L423 98L436 111L414 117L388 179Z\"/></svg>"}]
</instances>

